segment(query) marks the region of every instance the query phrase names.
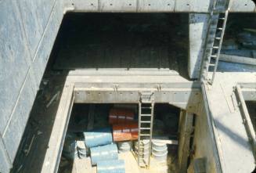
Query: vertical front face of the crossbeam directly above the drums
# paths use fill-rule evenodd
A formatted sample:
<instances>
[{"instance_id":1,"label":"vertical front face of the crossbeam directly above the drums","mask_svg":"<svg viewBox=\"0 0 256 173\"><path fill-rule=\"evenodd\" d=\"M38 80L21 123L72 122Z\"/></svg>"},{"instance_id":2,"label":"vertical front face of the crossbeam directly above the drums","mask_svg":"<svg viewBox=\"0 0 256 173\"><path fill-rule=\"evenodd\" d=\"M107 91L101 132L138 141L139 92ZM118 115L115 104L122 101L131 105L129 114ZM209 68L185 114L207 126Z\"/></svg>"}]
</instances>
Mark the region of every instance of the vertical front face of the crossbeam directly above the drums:
<instances>
[{"instance_id":1,"label":"vertical front face of the crossbeam directly above the drums","mask_svg":"<svg viewBox=\"0 0 256 173\"><path fill-rule=\"evenodd\" d=\"M84 87L81 87L84 85ZM87 85L87 86L86 86ZM101 87L99 87L99 85ZM178 86L186 86L178 88ZM194 87L197 83L188 84L165 84L161 87L157 84L75 84L74 103L139 103L140 93L150 91L154 93L155 103L169 103L197 113L197 108L201 100L200 88ZM115 87L116 86L116 87ZM117 87L118 86L118 87ZM140 86L140 87L139 87ZM168 88L169 86L170 88Z\"/></svg>"}]
</instances>

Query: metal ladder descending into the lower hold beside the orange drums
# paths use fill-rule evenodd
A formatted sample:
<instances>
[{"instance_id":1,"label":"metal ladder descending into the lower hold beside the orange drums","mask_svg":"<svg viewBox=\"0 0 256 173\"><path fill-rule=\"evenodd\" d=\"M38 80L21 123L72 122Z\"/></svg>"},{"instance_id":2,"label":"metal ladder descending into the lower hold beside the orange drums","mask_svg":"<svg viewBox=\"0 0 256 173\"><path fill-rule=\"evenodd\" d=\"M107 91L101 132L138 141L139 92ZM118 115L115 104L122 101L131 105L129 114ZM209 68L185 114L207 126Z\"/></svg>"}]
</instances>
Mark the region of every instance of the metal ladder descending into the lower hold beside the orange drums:
<instances>
[{"instance_id":1,"label":"metal ladder descending into the lower hold beside the orange drums","mask_svg":"<svg viewBox=\"0 0 256 173\"><path fill-rule=\"evenodd\" d=\"M151 141L153 132L153 92L142 92L139 102L138 165L150 168ZM149 141L149 153L144 152L143 140ZM148 155L145 160L144 156Z\"/></svg>"}]
</instances>

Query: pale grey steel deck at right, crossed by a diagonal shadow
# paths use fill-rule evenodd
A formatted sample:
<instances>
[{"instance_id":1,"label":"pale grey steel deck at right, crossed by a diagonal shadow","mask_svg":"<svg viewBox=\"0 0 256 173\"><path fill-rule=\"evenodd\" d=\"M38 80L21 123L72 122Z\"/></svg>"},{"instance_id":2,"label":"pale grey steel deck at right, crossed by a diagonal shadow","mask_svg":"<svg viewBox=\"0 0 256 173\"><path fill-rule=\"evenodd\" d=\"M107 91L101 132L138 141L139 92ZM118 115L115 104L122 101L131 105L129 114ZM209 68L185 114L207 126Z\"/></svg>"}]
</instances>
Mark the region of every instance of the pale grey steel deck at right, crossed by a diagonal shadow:
<instances>
[{"instance_id":1,"label":"pale grey steel deck at right, crossed by a diagonal shadow","mask_svg":"<svg viewBox=\"0 0 256 173\"><path fill-rule=\"evenodd\" d=\"M237 83L252 81L256 81L255 73L216 73L214 84L205 84L204 87L222 172L243 173L251 172L255 168L247 130L239 106L234 102L237 100L233 99ZM202 92L204 95L203 89ZM236 151L236 157L233 151Z\"/></svg>"}]
</instances>

